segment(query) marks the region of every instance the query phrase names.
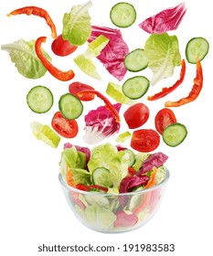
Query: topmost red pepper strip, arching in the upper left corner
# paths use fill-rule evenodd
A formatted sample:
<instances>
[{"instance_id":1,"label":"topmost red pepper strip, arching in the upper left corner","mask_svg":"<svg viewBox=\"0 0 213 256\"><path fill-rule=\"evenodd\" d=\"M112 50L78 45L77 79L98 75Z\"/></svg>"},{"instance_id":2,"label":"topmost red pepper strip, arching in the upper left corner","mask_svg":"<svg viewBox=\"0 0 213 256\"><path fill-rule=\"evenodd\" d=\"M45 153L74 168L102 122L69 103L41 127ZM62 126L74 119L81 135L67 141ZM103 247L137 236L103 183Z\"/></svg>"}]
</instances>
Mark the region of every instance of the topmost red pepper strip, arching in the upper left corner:
<instances>
[{"instance_id":1,"label":"topmost red pepper strip, arching in the upper left corner","mask_svg":"<svg viewBox=\"0 0 213 256\"><path fill-rule=\"evenodd\" d=\"M53 23L51 17L48 15L48 12L42 8L39 8L37 6L26 6L23 8L16 9L9 13L7 16L16 16L16 15L34 15L34 16L40 16L43 17L46 20L46 23L48 24L48 27L51 29L51 36L55 39L57 38L57 31L56 26Z\"/></svg>"}]
</instances>

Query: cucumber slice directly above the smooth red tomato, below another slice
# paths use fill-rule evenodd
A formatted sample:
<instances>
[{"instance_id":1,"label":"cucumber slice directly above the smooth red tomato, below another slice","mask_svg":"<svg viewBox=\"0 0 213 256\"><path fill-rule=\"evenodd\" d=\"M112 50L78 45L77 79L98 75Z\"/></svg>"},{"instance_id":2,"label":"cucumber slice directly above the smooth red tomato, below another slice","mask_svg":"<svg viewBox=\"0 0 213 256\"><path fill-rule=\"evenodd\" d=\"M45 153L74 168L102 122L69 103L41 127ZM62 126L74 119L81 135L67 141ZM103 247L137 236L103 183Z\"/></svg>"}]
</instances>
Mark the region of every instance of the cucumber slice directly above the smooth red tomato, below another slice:
<instances>
[{"instance_id":1,"label":"cucumber slice directly above the smooth red tomato, below another slice","mask_svg":"<svg viewBox=\"0 0 213 256\"><path fill-rule=\"evenodd\" d=\"M143 76L136 76L126 80L122 84L122 92L126 97L130 98L131 100L137 100L144 96L146 91L148 91L149 86L149 80L147 80Z\"/></svg>"}]
</instances>

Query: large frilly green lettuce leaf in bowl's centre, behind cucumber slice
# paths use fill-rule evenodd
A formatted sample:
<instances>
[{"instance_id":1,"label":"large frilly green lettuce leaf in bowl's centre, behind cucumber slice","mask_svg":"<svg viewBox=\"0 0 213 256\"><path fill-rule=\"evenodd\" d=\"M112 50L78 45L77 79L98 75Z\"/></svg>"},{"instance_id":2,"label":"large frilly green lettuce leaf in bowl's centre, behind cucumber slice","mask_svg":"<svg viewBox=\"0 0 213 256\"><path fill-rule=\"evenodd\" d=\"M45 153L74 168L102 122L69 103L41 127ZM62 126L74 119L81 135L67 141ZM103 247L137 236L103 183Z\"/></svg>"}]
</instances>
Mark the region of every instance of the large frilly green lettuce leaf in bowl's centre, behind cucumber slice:
<instances>
[{"instance_id":1,"label":"large frilly green lettuce leaf in bowl's centre, behind cucumber slice","mask_svg":"<svg viewBox=\"0 0 213 256\"><path fill-rule=\"evenodd\" d=\"M111 173L110 183L113 187L119 187L122 178L128 173L129 155L117 150L116 146L107 143L94 147L91 150L91 160L88 163L92 172L98 167L104 167ZM104 183L104 181L103 181Z\"/></svg>"}]
</instances>

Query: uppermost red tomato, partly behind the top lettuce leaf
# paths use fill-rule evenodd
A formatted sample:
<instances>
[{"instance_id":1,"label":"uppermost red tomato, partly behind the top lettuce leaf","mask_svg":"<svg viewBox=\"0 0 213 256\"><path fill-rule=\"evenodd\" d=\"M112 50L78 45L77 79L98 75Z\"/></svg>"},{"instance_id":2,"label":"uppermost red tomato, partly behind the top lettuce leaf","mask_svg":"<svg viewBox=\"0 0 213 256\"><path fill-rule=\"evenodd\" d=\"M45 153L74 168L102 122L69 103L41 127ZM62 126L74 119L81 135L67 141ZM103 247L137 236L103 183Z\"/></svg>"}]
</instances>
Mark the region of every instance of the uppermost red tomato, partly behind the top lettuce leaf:
<instances>
[{"instance_id":1,"label":"uppermost red tomato, partly behind the top lettuce leaf","mask_svg":"<svg viewBox=\"0 0 213 256\"><path fill-rule=\"evenodd\" d=\"M69 40L64 40L62 35L59 35L51 45L52 51L59 56L67 56L75 51L78 47L69 44Z\"/></svg>"}]
</instances>

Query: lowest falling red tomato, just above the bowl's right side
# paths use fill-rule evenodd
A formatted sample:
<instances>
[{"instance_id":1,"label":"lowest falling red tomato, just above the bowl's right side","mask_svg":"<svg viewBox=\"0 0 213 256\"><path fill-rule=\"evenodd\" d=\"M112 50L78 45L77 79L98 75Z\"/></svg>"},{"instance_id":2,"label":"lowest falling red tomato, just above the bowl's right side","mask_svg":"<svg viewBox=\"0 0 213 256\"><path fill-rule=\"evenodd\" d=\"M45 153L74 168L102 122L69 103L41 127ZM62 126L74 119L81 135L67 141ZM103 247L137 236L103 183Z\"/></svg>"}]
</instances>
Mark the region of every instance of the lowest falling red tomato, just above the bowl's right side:
<instances>
[{"instance_id":1,"label":"lowest falling red tomato, just above the bowl's right side","mask_svg":"<svg viewBox=\"0 0 213 256\"><path fill-rule=\"evenodd\" d=\"M152 129L141 129L133 132L131 146L139 152L154 151L160 144L160 135Z\"/></svg>"}]
</instances>

